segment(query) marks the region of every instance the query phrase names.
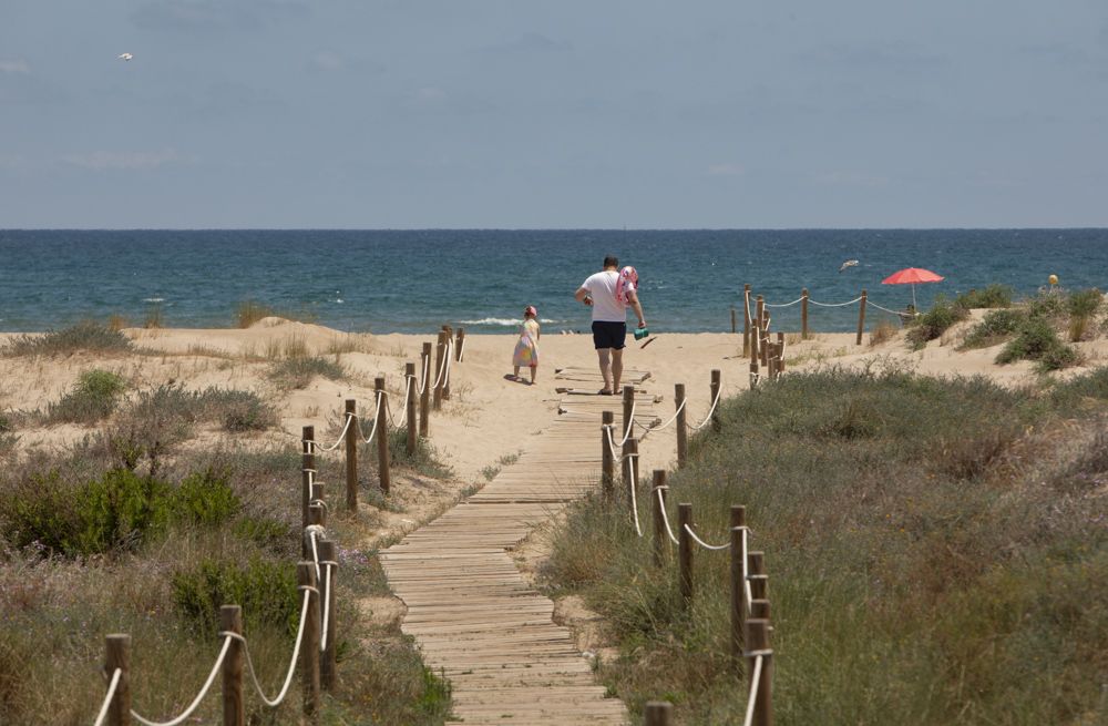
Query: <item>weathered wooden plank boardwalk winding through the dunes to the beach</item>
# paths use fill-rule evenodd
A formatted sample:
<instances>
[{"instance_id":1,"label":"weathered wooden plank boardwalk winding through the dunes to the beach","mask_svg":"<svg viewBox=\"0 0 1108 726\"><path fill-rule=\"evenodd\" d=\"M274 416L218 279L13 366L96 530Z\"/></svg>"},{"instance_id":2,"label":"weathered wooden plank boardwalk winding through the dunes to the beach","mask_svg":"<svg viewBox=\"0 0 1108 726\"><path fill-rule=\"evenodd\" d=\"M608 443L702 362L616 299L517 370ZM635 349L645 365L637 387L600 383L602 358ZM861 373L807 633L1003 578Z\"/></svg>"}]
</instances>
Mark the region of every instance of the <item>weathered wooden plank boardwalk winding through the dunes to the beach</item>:
<instances>
[{"instance_id":1,"label":"weathered wooden plank boardwalk winding through the dunes to the beach","mask_svg":"<svg viewBox=\"0 0 1108 726\"><path fill-rule=\"evenodd\" d=\"M628 384L649 374L625 371ZM599 375L566 369L561 386L599 389ZM653 418L654 397L637 393L636 419ZM507 550L568 502L598 487L601 412L620 422L617 396L563 395L557 419L511 467L468 501L381 554L408 614L403 632L453 686L465 724L626 724L605 697L554 603L527 585ZM618 439L617 439L618 440Z\"/></svg>"}]
</instances>

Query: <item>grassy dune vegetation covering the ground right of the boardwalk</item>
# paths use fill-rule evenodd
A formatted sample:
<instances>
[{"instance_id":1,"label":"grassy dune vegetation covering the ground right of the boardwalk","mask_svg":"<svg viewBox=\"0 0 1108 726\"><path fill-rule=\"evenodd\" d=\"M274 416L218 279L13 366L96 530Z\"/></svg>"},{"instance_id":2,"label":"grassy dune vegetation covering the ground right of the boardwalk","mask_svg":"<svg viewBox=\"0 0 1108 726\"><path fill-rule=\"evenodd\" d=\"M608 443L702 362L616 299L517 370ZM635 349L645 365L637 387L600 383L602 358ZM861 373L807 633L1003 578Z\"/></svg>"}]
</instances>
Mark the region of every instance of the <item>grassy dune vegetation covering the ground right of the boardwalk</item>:
<instances>
[{"instance_id":1,"label":"grassy dune vegetation covering the ground right of the boardwalk","mask_svg":"<svg viewBox=\"0 0 1108 726\"><path fill-rule=\"evenodd\" d=\"M770 573L777 723L1102 723L1106 408L1106 368L1009 389L892 364L727 401L721 431L670 474L669 517L690 502L698 533L726 542L729 505L747 507ZM609 624L599 677L634 710L665 698L678 723L741 723L727 555L696 550L689 606L676 558L654 565L627 507L572 508L545 587Z\"/></svg>"}]
</instances>

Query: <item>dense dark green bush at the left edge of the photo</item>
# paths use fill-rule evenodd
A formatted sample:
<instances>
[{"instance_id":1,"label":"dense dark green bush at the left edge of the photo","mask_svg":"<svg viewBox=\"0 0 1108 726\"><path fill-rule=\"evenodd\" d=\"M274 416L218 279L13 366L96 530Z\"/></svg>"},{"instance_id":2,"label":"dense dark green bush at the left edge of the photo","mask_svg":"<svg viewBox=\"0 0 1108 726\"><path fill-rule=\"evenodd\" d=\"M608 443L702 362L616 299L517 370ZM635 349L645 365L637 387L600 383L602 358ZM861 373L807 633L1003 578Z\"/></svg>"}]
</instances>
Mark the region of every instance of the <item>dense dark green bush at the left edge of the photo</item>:
<instances>
[{"instance_id":1,"label":"dense dark green bush at the left edge of the photo","mask_svg":"<svg viewBox=\"0 0 1108 726\"><path fill-rule=\"evenodd\" d=\"M0 518L16 546L38 542L66 556L102 554L161 533L168 521L167 493L164 482L126 469L75 485L54 470L0 500Z\"/></svg>"}]
</instances>

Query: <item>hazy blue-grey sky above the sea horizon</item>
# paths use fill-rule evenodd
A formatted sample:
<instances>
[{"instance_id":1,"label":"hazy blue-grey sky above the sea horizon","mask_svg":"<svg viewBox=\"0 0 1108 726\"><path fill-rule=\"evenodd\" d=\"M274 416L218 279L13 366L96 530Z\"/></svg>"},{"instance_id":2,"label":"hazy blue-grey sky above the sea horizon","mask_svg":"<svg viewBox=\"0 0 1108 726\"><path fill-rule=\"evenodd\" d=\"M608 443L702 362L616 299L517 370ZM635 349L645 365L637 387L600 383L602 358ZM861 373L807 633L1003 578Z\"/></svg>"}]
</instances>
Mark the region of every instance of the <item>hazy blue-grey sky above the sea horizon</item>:
<instances>
[{"instance_id":1,"label":"hazy blue-grey sky above the sea horizon","mask_svg":"<svg viewBox=\"0 0 1108 726\"><path fill-rule=\"evenodd\" d=\"M1104 0L0 0L0 228L1108 226L1106 130Z\"/></svg>"}]
</instances>

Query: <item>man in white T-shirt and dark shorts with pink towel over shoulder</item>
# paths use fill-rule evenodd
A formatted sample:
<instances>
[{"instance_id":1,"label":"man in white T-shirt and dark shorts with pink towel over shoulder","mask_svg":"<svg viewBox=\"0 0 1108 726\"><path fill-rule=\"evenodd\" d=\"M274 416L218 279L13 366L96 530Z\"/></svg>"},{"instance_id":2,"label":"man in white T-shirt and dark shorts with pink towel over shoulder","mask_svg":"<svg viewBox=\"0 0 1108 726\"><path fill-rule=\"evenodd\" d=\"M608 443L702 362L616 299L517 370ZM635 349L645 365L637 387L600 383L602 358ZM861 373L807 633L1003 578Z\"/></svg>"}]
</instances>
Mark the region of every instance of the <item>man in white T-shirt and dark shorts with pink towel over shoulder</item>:
<instances>
[{"instance_id":1,"label":"man in white T-shirt and dark shorts with pink towel over shoulder","mask_svg":"<svg viewBox=\"0 0 1108 726\"><path fill-rule=\"evenodd\" d=\"M593 345L599 358L604 389L612 396L619 390L623 376L623 349L627 337L627 306L638 317L638 327L646 327L643 305L638 301L638 274L634 267L619 269L619 260L608 255L604 269L589 275L574 297L593 308Z\"/></svg>"}]
</instances>

